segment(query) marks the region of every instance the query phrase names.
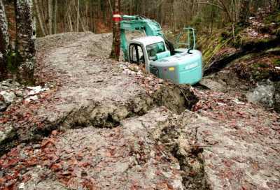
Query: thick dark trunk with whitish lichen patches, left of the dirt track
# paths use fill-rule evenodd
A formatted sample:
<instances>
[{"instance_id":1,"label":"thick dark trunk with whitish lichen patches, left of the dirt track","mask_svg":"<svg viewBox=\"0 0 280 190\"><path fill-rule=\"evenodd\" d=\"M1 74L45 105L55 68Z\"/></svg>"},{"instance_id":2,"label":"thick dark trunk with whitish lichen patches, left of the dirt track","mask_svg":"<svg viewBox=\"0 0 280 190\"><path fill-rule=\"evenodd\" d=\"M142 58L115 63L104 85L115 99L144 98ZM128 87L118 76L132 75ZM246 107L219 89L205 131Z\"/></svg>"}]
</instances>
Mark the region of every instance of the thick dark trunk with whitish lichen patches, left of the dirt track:
<instances>
[{"instance_id":1,"label":"thick dark trunk with whitish lichen patches, left of the dirt track","mask_svg":"<svg viewBox=\"0 0 280 190\"><path fill-rule=\"evenodd\" d=\"M32 0L15 0L17 24L16 48L20 56L18 80L25 84L34 82L35 22L32 15Z\"/></svg>"}]
</instances>

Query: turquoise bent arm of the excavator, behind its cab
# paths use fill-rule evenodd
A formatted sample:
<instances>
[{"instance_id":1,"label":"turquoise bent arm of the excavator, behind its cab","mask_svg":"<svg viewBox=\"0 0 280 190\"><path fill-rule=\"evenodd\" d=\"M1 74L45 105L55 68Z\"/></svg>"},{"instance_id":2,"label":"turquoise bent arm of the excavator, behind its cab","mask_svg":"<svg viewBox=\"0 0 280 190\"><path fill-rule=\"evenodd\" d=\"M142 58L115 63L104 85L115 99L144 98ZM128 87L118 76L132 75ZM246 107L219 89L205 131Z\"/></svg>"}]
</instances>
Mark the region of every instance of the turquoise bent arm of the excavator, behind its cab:
<instances>
[{"instance_id":1,"label":"turquoise bent arm of the excavator, behind its cab","mask_svg":"<svg viewBox=\"0 0 280 190\"><path fill-rule=\"evenodd\" d=\"M120 22L120 41L121 48L124 52L125 60L128 60L128 50L127 50L127 38L125 36L125 31L141 31L146 36L160 36L165 39L165 43L167 44L167 48L170 52L174 52L174 47L172 43L167 41L165 38L162 27L155 20L150 20L141 16L130 16L123 15L123 20Z\"/></svg>"}]
</instances>

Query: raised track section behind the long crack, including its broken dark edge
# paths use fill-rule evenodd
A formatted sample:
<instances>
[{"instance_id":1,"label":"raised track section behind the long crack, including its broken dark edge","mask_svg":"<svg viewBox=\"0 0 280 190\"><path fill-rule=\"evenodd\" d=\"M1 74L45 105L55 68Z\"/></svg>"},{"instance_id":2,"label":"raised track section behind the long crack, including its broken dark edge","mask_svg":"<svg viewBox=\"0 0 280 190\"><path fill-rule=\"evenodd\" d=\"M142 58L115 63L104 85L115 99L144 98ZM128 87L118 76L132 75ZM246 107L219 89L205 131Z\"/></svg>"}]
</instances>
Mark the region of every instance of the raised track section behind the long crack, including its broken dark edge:
<instances>
[{"instance_id":1,"label":"raised track section behind the long crack, including its broken dark edge","mask_svg":"<svg viewBox=\"0 0 280 190\"><path fill-rule=\"evenodd\" d=\"M109 41L109 36L69 33L39 38L36 75L40 84L49 82L53 87L35 101L20 101L3 112L2 154L15 139L40 140L54 129L112 128L161 105L179 113L197 102L189 86L178 87L145 74L138 66L92 54L99 49L94 44Z\"/></svg>"}]
</instances>

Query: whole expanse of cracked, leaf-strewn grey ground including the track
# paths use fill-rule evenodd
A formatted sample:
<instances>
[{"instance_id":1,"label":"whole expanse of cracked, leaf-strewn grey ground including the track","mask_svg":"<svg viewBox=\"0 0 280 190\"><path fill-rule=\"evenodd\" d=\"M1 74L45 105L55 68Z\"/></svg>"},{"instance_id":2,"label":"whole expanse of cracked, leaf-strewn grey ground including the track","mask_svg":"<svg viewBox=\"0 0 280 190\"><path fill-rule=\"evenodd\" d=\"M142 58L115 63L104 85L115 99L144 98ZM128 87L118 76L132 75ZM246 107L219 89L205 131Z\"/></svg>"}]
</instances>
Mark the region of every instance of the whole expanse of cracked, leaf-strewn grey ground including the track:
<instances>
[{"instance_id":1,"label":"whole expanse of cracked, leaf-strewn grey ground including the track","mask_svg":"<svg viewBox=\"0 0 280 190\"><path fill-rule=\"evenodd\" d=\"M110 41L38 39L54 87L1 116L0 189L280 189L279 115L106 59Z\"/></svg>"}]
</instances>

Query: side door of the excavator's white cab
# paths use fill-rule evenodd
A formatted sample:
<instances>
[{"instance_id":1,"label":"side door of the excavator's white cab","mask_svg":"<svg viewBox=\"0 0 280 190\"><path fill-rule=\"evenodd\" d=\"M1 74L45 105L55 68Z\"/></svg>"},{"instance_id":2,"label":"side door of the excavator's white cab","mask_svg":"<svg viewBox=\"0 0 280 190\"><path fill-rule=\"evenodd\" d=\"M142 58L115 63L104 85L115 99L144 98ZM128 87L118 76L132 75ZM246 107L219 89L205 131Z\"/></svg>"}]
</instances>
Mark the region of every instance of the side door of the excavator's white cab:
<instances>
[{"instance_id":1,"label":"side door of the excavator's white cab","mask_svg":"<svg viewBox=\"0 0 280 190\"><path fill-rule=\"evenodd\" d=\"M130 44L130 63L145 66L145 56L141 45Z\"/></svg>"}]
</instances>

